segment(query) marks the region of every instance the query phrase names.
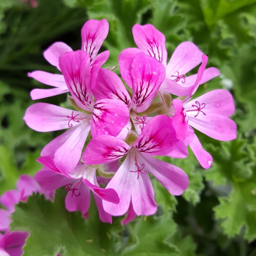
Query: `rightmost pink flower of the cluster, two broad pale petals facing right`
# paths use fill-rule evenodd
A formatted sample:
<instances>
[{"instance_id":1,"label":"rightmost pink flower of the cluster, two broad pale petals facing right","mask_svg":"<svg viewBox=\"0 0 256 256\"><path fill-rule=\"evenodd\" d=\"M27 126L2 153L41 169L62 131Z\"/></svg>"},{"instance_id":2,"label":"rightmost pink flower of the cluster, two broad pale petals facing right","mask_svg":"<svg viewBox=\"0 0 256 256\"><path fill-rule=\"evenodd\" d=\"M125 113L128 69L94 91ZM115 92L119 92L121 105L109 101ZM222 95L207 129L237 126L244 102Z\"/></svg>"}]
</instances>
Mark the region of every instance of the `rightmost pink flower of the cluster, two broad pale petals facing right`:
<instances>
[{"instance_id":1,"label":"rightmost pink flower of the cluster, two broad pale petals facing right","mask_svg":"<svg viewBox=\"0 0 256 256\"><path fill-rule=\"evenodd\" d=\"M169 114L173 116L176 137L180 140L187 137L189 126L219 141L236 138L236 124L229 119L235 110L234 101L227 90L213 90L190 100L200 84L207 59L207 56L202 56L202 65L198 69L196 82L187 97L184 100L174 99L169 109ZM210 168L212 157L203 149L196 135L189 145L202 167Z\"/></svg>"}]
</instances>

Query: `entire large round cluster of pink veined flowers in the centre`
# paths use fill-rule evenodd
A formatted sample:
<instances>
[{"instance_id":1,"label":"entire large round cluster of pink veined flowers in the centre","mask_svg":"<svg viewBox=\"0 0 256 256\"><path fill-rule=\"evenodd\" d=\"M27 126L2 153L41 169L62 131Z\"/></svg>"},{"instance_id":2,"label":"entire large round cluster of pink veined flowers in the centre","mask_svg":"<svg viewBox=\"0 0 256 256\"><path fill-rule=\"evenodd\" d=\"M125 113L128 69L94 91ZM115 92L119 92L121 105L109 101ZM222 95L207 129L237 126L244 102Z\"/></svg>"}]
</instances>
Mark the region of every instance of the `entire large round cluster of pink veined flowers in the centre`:
<instances>
[{"instance_id":1,"label":"entire large round cluster of pink veined flowers in the centre","mask_svg":"<svg viewBox=\"0 0 256 256\"><path fill-rule=\"evenodd\" d=\"M82 28L82 50L63 42L52 44L45 59L62 72L28 74L52 89L34 89L32 99L68 93L72 109L36 103L24 120L39 132L68 129L44 147L38 159L45 167L35 179L44 190L64 187L66 209L88 218L90 191L100 219L127 212L135 215L157 210L149 173L173 195L188 187L186 173L155 156L185 158L189 145L201 166L212 165L192 127L211 138L236 138L232 95L213 90L192 99L198 86L220 73L206 68L208 57L192 42L183 42L167 64L165 37L152 25L133 27L138 48L119 56L121 78L101 68L109 51L98 54L106 39L107 20L89 20ZM197 74L187 73L199 66Z\"/></svg>"}]
</instances>

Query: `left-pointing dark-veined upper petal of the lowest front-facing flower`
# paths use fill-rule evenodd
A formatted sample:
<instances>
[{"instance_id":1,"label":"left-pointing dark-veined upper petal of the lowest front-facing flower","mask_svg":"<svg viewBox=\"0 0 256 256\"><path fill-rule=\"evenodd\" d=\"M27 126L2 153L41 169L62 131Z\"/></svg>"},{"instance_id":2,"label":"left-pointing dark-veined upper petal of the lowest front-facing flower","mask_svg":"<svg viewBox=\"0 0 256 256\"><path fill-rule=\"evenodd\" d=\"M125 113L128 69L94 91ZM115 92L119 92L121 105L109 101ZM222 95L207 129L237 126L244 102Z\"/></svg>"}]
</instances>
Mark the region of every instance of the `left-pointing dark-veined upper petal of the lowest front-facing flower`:
<instances>
[{"instance_id":1,"label":"left-pointing dark-veined upper petal of the lowest front-facing flower","mask_svg":"<svg viewBox=\"0 0 256 256\"><path fill-rule=\"evenodd\" d=\"M113 162L125 156L130 148L119 138L100 135L89 142L83 160L88 165Z\"/></svg>"}]
</instances>

